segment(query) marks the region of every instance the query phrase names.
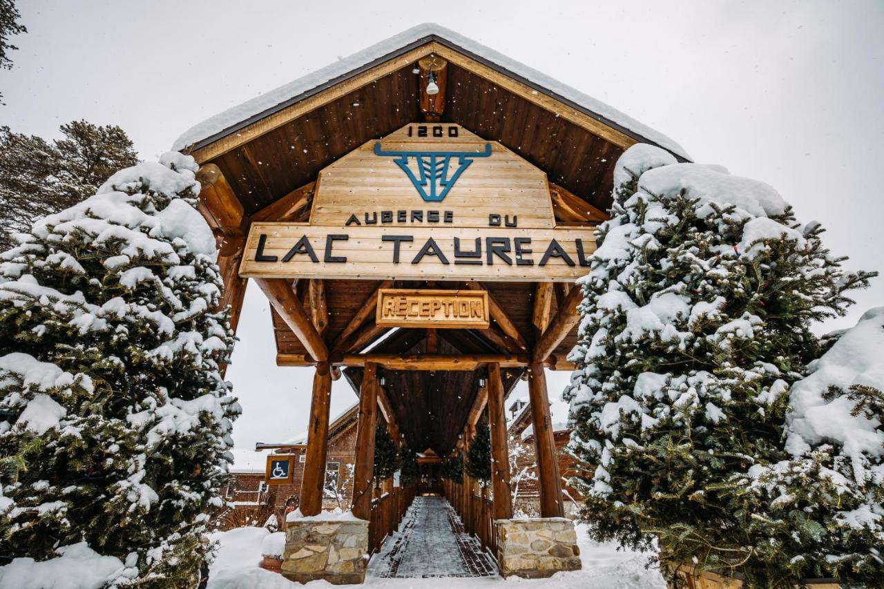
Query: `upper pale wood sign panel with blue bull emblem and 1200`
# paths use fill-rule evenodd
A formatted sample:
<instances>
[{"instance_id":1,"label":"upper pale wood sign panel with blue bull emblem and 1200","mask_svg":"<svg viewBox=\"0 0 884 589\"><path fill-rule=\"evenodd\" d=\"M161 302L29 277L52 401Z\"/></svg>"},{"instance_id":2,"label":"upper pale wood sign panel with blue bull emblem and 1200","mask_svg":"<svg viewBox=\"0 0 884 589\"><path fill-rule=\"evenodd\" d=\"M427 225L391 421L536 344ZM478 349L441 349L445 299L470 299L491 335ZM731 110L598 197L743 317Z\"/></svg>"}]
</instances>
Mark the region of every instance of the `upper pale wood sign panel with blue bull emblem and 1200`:
<instances>
[{"instance_id":1,"label":"upper pale wood sign panel with blue bull emblem and 1200","mask_svg":"<svg viewBox=\"0 0 884 589\"><path fill-rule=\"evenodd\" d=\"M552 229L546 174L459 125L411 124L319 173L311 225Z\"/></svg>"}]
</instances>

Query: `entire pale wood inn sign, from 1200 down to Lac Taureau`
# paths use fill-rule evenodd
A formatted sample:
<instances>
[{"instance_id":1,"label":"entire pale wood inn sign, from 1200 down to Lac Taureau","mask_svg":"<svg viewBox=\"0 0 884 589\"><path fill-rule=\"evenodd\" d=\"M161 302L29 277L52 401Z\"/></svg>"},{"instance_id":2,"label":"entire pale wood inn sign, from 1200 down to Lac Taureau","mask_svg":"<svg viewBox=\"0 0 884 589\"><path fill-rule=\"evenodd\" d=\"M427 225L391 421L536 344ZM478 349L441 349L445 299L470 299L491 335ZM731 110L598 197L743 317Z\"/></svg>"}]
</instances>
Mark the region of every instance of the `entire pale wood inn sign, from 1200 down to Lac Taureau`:
<instances>
[{"instance_id":1,"label":"entire pale wood inn sign, from 1200 down to Lac Taureau","mask_svg":"<svg viewBox=\"0 0 884 589\"><path fill-rule=\"evenodd\" d=\"M458 125L412 124L319 174L309 224L253 223L240 275L567 281L589 226L557 227L546 175Z\"/></svg>"}]
</instances>

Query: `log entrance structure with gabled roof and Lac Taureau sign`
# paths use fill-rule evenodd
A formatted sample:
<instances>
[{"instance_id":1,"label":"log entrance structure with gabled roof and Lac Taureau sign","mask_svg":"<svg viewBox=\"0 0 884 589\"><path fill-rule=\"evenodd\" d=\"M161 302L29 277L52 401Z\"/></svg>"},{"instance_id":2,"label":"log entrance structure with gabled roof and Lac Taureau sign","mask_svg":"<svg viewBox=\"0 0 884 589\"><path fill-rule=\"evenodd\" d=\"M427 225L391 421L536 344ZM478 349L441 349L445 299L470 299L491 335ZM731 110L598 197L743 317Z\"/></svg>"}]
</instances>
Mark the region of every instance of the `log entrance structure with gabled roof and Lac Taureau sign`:
<instances>
[{"instance_id":1,"label":"log entrance structure with gabled roof and Lac Taureau sign","mask_svg":"<svg viewBox=\"0 0 884 589\"><path fill-rule=\"evenodd\" d=\"M371 516L380 412L394 440L440 456L466 450L486 415L493 516L511 516L504 401L527 378L540 513L561 516L545 370L572 368L575 279L589 272L615 162L636 142L684 160L635 121L433 27L314 74L318 85L279 88L270 108L263 98L239 120L210 119L179 146L201 164L233 328L253 279L271 302L277 363L315 367L305 516L321 509L341 376L360 397L355 515ZM391 326L378 319L388 288L486 293L488 317L427 325L405 313Z\"/></svg>"}]
</instances>

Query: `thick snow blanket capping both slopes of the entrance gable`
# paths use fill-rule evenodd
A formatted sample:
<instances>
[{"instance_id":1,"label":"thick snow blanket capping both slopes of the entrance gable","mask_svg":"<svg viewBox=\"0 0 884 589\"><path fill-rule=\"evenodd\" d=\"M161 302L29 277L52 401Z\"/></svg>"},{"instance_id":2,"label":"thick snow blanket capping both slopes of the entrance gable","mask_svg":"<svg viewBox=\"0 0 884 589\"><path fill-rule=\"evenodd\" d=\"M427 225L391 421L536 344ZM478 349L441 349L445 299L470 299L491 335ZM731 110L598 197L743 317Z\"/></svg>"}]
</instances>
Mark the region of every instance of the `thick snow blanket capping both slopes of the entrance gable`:
<instances>
[{"instance_id":1,"label":"thick snow blanket capping both slopes of the entrance gable","mask_svg":"<svg viewBox=\"0 0 884 589\"><path fill-rule=\"evenodd\" d=\"M545 73L538 72L498 51L435 23L423 23L400 34L394 34L385 41L377 42L350 57L339 59L339 61L326 65L314 73L309 73L261 96L256 96L245 103L220 112L181 134L172 145L172 149L201 149L227 135L240 131L256 120L267 118L325 88L337 85L369 70L378 63L399 57L428 42L438 42L472 57L484 65L491 66L499 73L519 80L537 92L565 103L576 111L590 115L606 126L633 137L637 142L653 143L671 151L676 157L690 158L682 146L667 135L645 126L629 115L587 96L575 88L553 80Z\"/></svg>"}]
</instances>

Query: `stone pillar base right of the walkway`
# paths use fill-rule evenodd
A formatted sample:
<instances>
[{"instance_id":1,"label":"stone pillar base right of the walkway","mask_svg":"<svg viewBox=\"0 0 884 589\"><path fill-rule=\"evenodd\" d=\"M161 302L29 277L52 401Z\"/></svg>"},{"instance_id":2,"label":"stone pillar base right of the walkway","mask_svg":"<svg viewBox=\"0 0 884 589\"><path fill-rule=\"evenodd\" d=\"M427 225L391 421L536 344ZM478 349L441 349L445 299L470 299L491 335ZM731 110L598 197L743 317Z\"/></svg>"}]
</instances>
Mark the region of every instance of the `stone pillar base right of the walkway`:
<instances>
[{"instance_id":1,"label":"stone pillar base right of the walkway","mask_svg":"<svg viewBox=\"0 0 884 589\"><path fill-rule=\"evenodd\" d=\"M580 570L574 522L564 517L499 519L498 565L503 577L544 578Z\"/></svg>"}]
</instances>

